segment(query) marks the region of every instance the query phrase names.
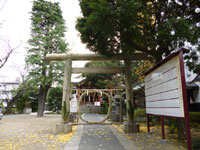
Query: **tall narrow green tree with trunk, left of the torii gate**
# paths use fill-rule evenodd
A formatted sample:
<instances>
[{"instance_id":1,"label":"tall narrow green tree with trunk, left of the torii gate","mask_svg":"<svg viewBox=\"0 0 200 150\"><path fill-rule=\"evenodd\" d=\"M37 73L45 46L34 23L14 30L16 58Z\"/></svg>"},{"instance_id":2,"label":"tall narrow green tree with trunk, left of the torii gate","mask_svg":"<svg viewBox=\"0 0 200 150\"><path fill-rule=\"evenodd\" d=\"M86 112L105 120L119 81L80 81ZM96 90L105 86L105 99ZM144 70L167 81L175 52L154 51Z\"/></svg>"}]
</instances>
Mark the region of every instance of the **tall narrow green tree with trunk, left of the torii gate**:
<instances>
[{"instance_id":1,"label":"tall narrow green tree with trunk, left of the torii gate","mask_svg":"<svg viewBox=\"0 0 200 150\"><path fill-rule=\"evenodd\" d=\"M38 116L43 116L47 93L52 84L61 81L64 63L49 63L45 56L49 53L64 53L65 25L59 3L45 0L33 1L31 12L30 48L26 57L29 70L29 86L39 88Z\"/></svg>"}]
</instances>

